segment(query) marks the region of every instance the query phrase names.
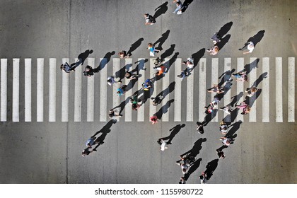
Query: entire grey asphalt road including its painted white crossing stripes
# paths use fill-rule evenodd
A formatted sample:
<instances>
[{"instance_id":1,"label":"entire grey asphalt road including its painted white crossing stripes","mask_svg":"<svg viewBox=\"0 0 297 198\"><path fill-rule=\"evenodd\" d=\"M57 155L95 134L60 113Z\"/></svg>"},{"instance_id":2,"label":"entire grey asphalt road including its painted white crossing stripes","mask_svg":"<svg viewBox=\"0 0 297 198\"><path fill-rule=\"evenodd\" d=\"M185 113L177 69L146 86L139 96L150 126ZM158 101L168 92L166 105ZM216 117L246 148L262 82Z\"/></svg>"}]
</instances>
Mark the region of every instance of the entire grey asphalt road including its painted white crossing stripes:
<instances>
[{"instance_id":1,"label":"entire grey asphalt road including its painted white crossing stripes","mask_svg":"<svg viewBox=\"0 0 297 198\"><path fill-rule=\"evenodd\" d=\"M172 1L161 0L1 0L0 182L177 183L182 171L175 161L182 153L192 151L197 161L187 175L187 183L199 183L199 175L205 170L209 183L296 183L297 1L187 2L190 4L186 11L177 15L173 13ZM144 13L155 16L156 23L144 25ZM219 31L223 34L220 51L211 56L205 50L213 45L210 38ZM250 38L256 40L255 50L243 54L238 48ZM132 122L125 121L126 109L130 108L127 104L123 117L112 123L107 110L129 95L117 97L115 88L107 86L106 78L101 83L101 76L115 75L128 61L134 69L137 66L134 62L148 59L142 63L146 70L140 72L151 78L148 42L157 42L156 47L161 50L158 57L171 59L170 73L157 82L153 96L173 81L176 83L174 91L165 97L168 103L156 107L157 111L163 107L162 120L154 125L148 121L151 116L148 99L142 110L130 112ZM129 49L132 51L129 59L117 59L117 52ZM62 59L69 58L72 63L86 50L93 50L88 54L91 59L79 68L83 70L92 58L95 66L106 58L104 69L93 77L83 76L79 69L64 77L59 70ZM192 76L177 82L180 63L175 59L184 61L187 57L194 57L196 64ZM50 58L56 61L52 74ZM31 63L30 70L24 66L25 59ZM37 59L44 61L43 70L38 69ZM252 60L256 64L250 64ZM212 120L215 122L204 127L204 134L197 132L196 122L203 121L203 105L211 102L211 93L205 89L211 87L213 79L221 81L226 76L219 76L226 69L238 71L244 65L257 67L249 70L251 80L241 83L233 78L231 89L219 107L231 102L240 88L248 88L252 78L259 79L262 92L258 93L250 115L239 113L231 120L233 126L228 136L234 141L223 148L226 158L219 159L216 149L223 145L219 140L223 112L219 111ZM213 71L217 71L216 76ZM78 72L81 88L76 90ZM27 74L30 81L25 78ZM50 75L55 76L54 93ZM144 76L134 84L133 93L145 80ZM66 78L69 81L63 87ZM15 86L16 82L19 86ZM25 82L31 85L30 89ZM77 98L78 93L81 97ZM51 94L55 94L54 112ZM68 100L64 100L64 94ZM239 101L244 98L245 95ZM204 104L200 105L201 102ZM175 111L179 107L180 111ZM49 122L50 112L54 113L54 122ZM185 127L178 130L178 124ZM170 131L175 126L177 130ZM100 132L96 137L104 144L98 147L98 152L82 157L86 140L96 132ZM172 144L168 150L160 151L156 141L171 132Z\"/></svg>"}]
</instances>

